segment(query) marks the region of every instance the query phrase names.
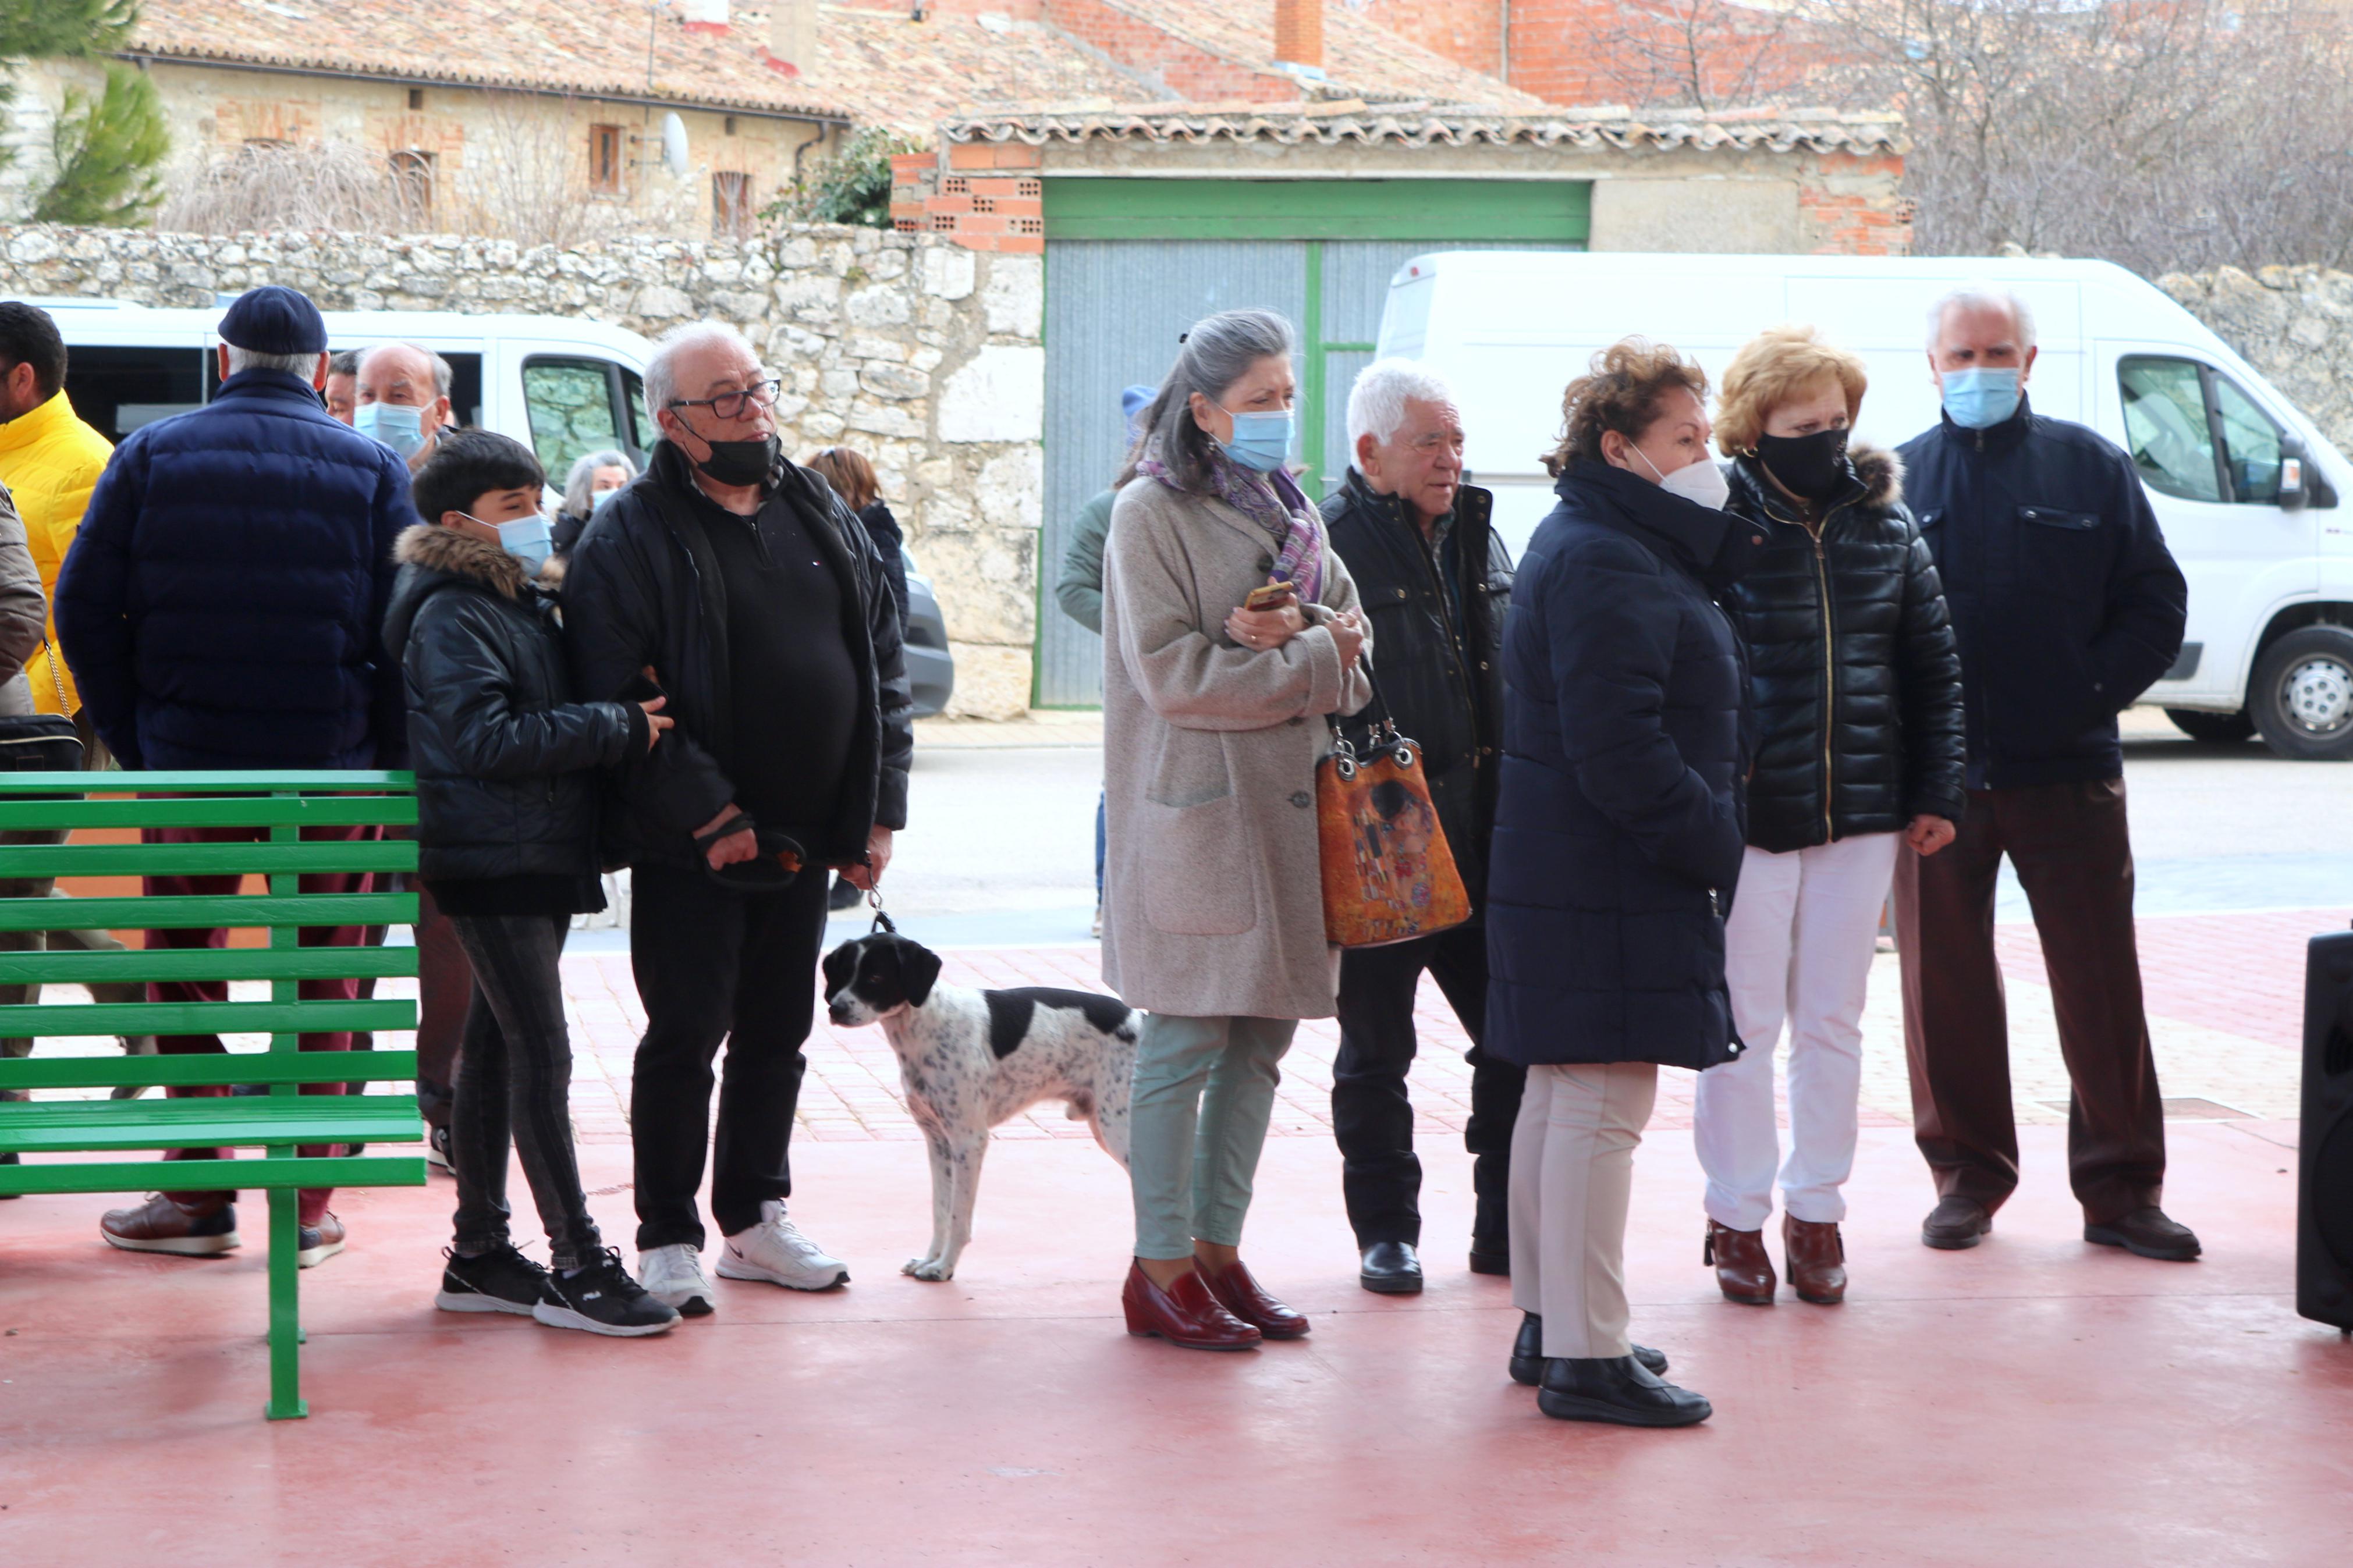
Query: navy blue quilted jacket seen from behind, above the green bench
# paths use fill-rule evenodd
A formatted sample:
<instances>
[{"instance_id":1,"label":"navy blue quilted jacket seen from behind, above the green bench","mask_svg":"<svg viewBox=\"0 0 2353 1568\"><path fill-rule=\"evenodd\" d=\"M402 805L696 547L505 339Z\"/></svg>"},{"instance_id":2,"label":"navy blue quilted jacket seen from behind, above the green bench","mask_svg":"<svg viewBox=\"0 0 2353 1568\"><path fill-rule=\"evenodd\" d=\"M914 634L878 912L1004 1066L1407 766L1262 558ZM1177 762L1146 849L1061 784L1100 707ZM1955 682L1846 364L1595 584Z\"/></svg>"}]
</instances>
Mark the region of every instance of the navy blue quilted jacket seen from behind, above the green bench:
<instances>
[{"instance_id":1,"label":"navy blue quilted jacket seen from behind, above the green bench","mask_svg":"<svg viewBox=\"0 0 2353 1568\"><path fill-rule=\"evenodd\" d=\"M412 522L407 465L285 371L134 430L56 578L99 736L127 769L400 766L376 628Z\"/></svg>"}]
</instances>

